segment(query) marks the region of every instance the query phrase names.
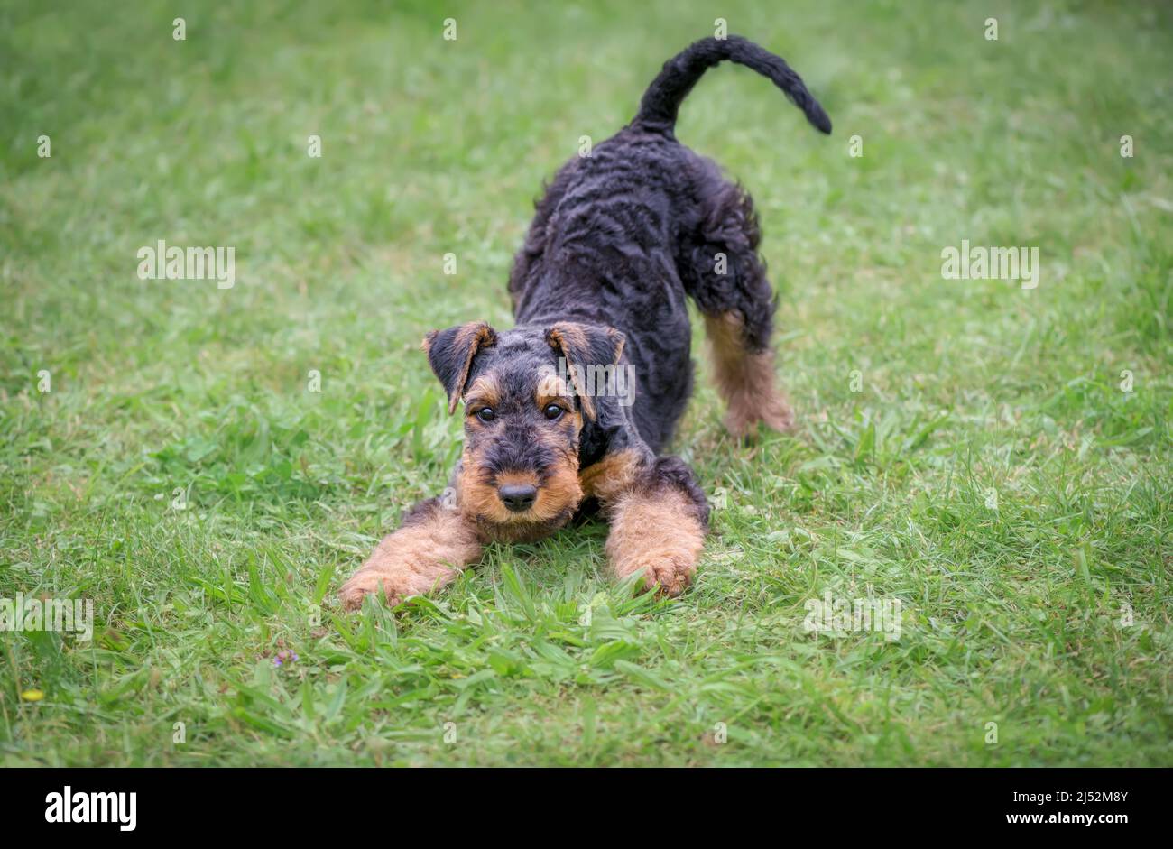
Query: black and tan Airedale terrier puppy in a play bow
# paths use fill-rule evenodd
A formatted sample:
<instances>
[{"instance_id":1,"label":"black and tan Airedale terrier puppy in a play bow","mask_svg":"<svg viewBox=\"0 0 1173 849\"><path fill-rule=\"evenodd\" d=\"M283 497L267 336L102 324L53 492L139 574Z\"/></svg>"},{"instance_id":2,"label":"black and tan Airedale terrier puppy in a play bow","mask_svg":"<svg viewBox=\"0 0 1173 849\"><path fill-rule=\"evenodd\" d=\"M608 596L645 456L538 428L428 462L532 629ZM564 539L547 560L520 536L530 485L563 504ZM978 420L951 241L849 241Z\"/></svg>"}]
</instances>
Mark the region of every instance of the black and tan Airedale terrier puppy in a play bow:
<instances>
[{"instance_id":1,"label":"black and tan Airedale terrier puppy in a play bow","mask_svg":"<svg viewBox=\"0 0 1173 849\"><path fill-rule=\"evenodd\" d=\"M724 60L767 76L830 133L799 75L745 39L704 39L667 62L636 118L568 162L536 204L509 278L516 326L425 339L448 412L465 402L463 453L449 497L416 504L379 543L343 586L346 607L436 590L489 541L537 539L586 510L610 522L617 579L638 571L673 596L692 580L708 505L692 470L659 456L692 390L685 296L705 319L730 430L794 421L774 379L777 300L753 205L673 133L685 95Z\"/></svg>"}]
</instances>

